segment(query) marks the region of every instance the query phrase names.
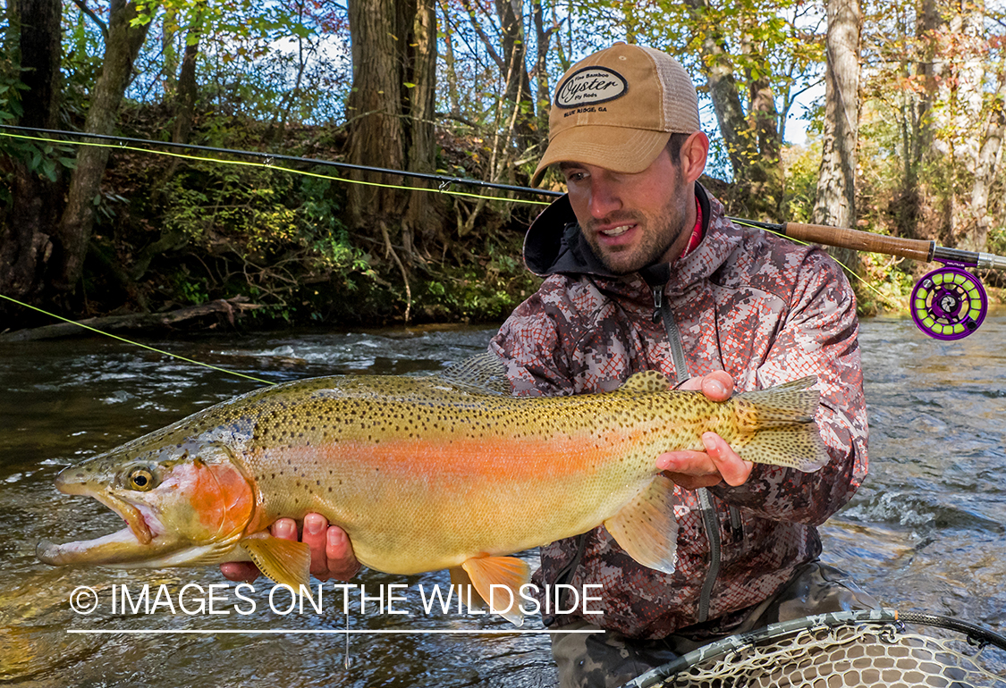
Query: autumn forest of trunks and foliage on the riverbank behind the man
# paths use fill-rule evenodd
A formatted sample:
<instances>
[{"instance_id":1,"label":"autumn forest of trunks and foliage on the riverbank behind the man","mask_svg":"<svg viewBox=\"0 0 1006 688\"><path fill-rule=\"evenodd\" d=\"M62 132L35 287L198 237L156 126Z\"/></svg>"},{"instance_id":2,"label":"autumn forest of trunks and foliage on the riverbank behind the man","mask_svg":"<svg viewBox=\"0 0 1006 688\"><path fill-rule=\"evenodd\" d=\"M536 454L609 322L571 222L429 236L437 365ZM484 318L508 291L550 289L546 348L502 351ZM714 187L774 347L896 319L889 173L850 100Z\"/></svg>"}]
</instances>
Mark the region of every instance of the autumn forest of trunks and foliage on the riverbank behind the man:
<instances>
[{"instance_id":1,"label":"autumn forest of trunks and foliage on the riverbank behind the man","mask_svg":"<svg viewBox=\"0 0 1006 688\"><path fill-rule=\"evenodd\" d=\"M0 125L517 186L562 72L615 40L652 45L698 85L713 139L703 181L729 214L1006 253L1002 2L2 7ZM801 118L806 141L792 142ZM78 141L0 130L0 295L72 318L227 300L227 317L267 327L498 321L537 285L520 249L544 196ZM838 257L861 278L864 313L903 306L927 269ZM46 322L0 301L0 331Z\"/></svg>"}]
</instances>

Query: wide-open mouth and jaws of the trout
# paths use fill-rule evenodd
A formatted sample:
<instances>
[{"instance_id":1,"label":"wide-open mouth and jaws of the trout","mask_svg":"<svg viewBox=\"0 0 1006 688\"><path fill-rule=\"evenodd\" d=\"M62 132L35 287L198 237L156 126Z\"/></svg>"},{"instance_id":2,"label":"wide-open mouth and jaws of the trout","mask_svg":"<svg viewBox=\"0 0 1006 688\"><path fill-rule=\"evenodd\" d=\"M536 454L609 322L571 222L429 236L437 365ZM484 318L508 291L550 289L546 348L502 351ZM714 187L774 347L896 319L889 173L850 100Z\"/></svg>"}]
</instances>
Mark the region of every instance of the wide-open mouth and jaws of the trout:
<instances>
[{"instance_id":1,"label":"wide-open mouth and jaws of the trout","mask_svg":"<svg viewBox=\"0 0 1006 688\"><path fill-rule=\"evenodd\" d=\"M88 495L119 514L126 526L115 533L93 540L78 540L57 544L42 540L35 548L35 555L44 563L54 566L85 563L118 563L136 561L151 555L154 534L143 514L129 502L107 492L95 492L87 485L63 483L57 479L60 492L70 495Z\"/></svg>"}]
</instances>

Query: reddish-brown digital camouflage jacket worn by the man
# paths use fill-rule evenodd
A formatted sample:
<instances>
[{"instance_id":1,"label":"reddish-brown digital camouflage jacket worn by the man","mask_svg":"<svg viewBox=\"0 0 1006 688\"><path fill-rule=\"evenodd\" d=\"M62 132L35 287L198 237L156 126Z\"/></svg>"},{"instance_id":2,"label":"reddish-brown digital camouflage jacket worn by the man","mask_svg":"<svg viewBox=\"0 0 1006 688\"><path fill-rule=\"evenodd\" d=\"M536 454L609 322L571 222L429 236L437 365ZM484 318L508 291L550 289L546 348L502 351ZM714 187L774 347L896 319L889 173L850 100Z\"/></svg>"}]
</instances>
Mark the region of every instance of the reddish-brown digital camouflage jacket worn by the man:
<instances>
[{"instance_id":1,"label":"reddish-brown digital camouflage jacket worn by the man","mask_svg":"<svg viewBox=\"0 0 1006 688\"><path fill-rule=\"evenodd\" d=\"M641 274L609 275L582 241L567 197L557 200L524 244L528 267L546 280L490 344L521 395L609 391L647 369L671 379L723 369L738 391L818 376L817 420L831 461L812 474L757 465L739 487L676 488L673 574L637 563L604 527L542 547L539 586L600 584L602 601L591 609L603 616L582 618L638 638L686 627L728 632L821 553L816 526L866 475L859 326L845 276L820 248L736 226L697 185L696 196L702 242L655 289ZM670 327L654 317L655 291ZM674 325L689 369L680 375Z\"/></svg>"}]
</instances>

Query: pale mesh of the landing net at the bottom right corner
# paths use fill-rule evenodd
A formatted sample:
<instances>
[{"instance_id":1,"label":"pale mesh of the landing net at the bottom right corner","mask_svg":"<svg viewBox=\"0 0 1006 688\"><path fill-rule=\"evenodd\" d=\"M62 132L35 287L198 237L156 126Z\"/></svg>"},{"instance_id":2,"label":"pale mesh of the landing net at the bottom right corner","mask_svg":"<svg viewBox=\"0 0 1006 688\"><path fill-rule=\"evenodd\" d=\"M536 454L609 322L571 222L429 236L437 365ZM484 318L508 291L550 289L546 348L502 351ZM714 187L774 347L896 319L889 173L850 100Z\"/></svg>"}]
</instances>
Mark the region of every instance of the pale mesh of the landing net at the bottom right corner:
<instances>
[{"instance_id":1,"label":"pale mesh of the landing net at the bottom right corner","mask_svg":"<svg viewBox=\"0 0 1006 688\"><path fill-rule=\"evenodd\" d=\"M819 615L730 636L626 684L650 686L1006 688L1006 638L934 615Z\"/></svg>"}]
</instances>

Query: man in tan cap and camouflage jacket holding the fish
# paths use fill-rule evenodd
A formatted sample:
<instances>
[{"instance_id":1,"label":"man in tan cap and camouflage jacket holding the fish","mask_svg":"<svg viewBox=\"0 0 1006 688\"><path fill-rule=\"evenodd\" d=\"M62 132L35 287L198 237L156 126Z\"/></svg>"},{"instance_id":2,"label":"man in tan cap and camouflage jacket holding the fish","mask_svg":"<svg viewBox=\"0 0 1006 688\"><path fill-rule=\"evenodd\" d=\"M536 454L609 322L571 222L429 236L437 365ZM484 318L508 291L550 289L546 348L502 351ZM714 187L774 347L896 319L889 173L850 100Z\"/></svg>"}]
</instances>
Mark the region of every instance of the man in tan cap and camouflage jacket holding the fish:
<instances>
[{"instance_id":1,"label":"man in tan cap and camouflage jacket holding the fish","mask_svg":"<svg viewBox=\"0 0 1006 688\"><path fill-rule=\"evenodd\" d=\"M817 422L831 461L816 473L744 462L718 436L706 452L656 458L676 484L673 574L633 560L604 527L541 550L540 587L600 585L600 616L544 617L561 685L618 686L724 635L809 614L872 609L818 562L816 526L866 475L855 301L818 247L738 227L697 183L709 141L684 68L617 43L559 81L549 144L568 193L531 224L527 266L546 277L493 338L517 395L610 391L655 369L714 400L817 375ZM556 504L556 509L561 509ZM359 565L345 533L311 514L312 573ZM284 519L279 536L296 538ZM250 564L224 564L247 579ZM599 621L600 620L600 621ZM597 625L597 627L592 627Z\"/></svg>"}]
</instances>

